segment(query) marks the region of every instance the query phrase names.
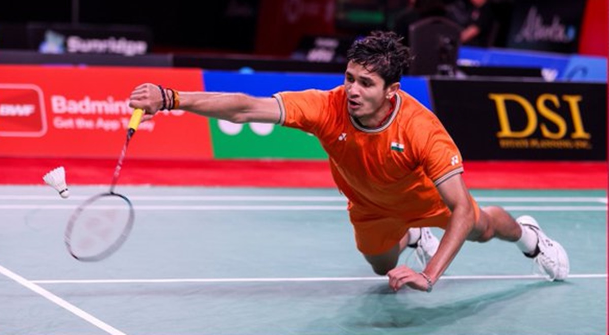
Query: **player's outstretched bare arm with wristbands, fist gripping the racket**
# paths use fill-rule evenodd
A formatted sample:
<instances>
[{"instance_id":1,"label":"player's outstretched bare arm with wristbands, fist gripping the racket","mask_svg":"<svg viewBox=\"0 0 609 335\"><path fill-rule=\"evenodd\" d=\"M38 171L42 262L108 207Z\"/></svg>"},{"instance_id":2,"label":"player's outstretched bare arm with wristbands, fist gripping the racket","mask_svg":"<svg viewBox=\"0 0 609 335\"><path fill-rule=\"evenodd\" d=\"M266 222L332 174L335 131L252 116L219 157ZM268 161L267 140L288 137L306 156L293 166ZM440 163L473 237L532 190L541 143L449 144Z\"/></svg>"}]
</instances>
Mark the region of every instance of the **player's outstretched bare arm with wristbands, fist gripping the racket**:
<instances>
[{"instance_id":1,"label":"player's outstretched bare arm with wristbands, fist gripping the racket","mask_svg":"<svg viewBox=\"0 0 609 335\"><path fill-rule=\"evenodd\" d=\"M129 106L142 108L154 115L163 106L169 105L171 92L158 85L144 83L137 86L130 95ZM243 93L183 92L177 91L177 108L191 111L209 118L225 119L231 122L279 123L281 112L275 98L259 98ZM174 103L175 104L175 103Z\"/></svg>"}]
</instances>

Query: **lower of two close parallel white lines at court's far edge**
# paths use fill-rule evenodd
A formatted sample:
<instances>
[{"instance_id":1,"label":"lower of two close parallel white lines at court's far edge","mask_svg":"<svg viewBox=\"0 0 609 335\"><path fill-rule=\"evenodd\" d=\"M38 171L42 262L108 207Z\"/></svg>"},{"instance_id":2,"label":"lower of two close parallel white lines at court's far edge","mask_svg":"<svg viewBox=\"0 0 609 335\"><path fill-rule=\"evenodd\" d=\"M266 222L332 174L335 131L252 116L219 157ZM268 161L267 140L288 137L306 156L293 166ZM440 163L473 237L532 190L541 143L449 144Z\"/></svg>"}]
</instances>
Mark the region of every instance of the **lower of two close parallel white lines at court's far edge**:
<instances>
[{"instance_id":1,"label":"lower of two close parallel white lines at court's far edge","mask_svg":"<svg viewBox=\"0 0 609 335\"><path fill-rule=\"evenodd\" d=\"M0 210L74 210L77 205L0 205ZM115 209L119 206L90 206ZM346 211L347 205L134 205L138 211ZM507 211L607 211L607 206L503 206Z\"/></svg>"}]
</instances>

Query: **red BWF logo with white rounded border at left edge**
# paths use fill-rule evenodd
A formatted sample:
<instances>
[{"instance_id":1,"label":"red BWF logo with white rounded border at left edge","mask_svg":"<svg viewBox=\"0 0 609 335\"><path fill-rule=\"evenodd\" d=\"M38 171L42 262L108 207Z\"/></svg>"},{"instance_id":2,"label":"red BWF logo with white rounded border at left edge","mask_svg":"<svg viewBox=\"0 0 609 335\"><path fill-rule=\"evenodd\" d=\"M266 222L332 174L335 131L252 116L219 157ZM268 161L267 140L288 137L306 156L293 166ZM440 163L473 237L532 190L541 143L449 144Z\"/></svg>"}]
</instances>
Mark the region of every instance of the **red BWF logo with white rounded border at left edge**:
<instances>
[{"instance_id":1,"label":"red BWF logo with white rounded border at left edge","mask_svg":"<svg viewBox=\"0 0 609 335\"><path fill-rule=\"evenodd\" d=\"M41 137L47 131L43 93L30 84L0 84L0 136Z\"/></svg>"}]
</instances>

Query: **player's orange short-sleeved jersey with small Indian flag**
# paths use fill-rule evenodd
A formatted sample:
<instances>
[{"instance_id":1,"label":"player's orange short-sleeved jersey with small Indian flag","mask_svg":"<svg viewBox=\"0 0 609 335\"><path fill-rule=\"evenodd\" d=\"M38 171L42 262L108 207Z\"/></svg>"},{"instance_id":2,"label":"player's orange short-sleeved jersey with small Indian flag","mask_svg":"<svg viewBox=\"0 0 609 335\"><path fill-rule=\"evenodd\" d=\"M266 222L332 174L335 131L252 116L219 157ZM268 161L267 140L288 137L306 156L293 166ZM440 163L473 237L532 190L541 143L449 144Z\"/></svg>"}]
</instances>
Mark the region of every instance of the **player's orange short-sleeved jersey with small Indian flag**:
<instances>
[{"instance_id":1,"label":"player's orange short-sleeved jersey with small Indian flag","mask_svg":"<svg viewBox=\"0 0 609 335\"><path fill-rule=\"evenodd\" d=\"M344 86L275 97L283 125L319 138L352 220L394 217L408 224L446 214L435 186L463 172L461 155L434 113L414 97L400 90L389 121L378 129L351 118Z\"/></svg>"}]
</instances>

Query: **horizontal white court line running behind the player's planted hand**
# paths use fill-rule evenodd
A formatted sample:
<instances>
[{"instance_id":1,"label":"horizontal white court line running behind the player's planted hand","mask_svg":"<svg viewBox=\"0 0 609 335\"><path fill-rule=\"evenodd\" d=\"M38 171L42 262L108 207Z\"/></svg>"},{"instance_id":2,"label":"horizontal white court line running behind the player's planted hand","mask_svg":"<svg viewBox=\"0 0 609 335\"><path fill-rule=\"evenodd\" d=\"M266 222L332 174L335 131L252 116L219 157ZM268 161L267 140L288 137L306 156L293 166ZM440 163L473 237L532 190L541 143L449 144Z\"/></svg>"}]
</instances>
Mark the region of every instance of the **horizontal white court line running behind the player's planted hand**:
<instances>
[{"instance_id":1,"label":"horizontal white court line running behind the player's planted hand","mask_svg":"<svg viewBox=\"0 0 609 335\"><path fill-rule=\"evenodd\" d=\"M607 278L607 273L569 275L571 279ZM546 280L541 275L479 275L443 276L440 280ZM307 281L379 281L387 277L301 277L301 278L174 278L174 279L78 279L78 280L32 280L37 284L172 284L172 283L277 283Z\"/></svg>"}]
</instances>

